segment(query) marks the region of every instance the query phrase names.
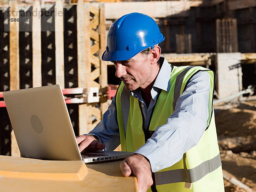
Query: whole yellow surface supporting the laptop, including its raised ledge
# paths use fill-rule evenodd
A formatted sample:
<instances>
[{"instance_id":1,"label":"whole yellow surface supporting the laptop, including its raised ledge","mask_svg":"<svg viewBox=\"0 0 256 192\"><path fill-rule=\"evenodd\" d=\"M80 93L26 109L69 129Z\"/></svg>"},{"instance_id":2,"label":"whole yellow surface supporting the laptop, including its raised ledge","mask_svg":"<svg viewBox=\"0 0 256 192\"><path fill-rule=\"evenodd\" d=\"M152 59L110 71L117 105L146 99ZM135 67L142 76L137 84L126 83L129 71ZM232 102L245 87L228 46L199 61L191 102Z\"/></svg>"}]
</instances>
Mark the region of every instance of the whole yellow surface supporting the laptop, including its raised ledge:
<instances>
[{"instance_id":1,"label":"whole yellow surface supporting the laptop, including its raised ledge","mask_svg":"<svg viewBox=\"0 0 256 192\"><path fill-rule=\"evenodd\" d=\"M134 192L137 179L123 177L120 161L85 165L0 155L1 191Z\"/></svg>"}]
</instances>

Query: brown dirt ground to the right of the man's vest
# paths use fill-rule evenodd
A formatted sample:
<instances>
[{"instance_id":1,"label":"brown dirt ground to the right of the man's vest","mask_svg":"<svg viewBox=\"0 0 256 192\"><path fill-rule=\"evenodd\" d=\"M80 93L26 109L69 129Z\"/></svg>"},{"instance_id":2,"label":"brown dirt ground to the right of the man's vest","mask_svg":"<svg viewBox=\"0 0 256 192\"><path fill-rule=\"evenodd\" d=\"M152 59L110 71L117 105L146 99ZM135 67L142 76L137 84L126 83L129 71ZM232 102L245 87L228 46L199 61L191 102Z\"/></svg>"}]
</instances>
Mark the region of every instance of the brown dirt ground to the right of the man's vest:
<instances>
[{"instance_id":1,"label":"brown dirt ground to the right of the man's vest","mask_svg":"<svg viewBox=\"0 0 256 192\"><path fill-rule=\"evenodd\" d=\"M256 96L214 106L222 168L256 192ZM224 180L225 192L245 192Z\"/></svg>"}]
</instances>

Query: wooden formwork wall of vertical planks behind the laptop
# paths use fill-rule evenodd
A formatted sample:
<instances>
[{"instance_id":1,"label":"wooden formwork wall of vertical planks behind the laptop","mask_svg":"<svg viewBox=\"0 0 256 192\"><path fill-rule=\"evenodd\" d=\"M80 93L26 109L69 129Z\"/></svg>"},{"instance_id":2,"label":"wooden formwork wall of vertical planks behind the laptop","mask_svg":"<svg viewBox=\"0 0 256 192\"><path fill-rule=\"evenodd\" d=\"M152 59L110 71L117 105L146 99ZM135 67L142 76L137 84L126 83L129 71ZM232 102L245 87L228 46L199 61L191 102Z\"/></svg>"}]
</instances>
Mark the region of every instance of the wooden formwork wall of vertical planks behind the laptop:
<instances>
[{"instance_id":1,"label":"wooden formwork wall of vertical planks behind the laptop","mask_svg":"<svg viewBox=\"0 0 256 192\"><path fill-rule=\"evenodd\" d=\"M16 1L12 1L11 7L7 8L11 13L21 12L21 9L25 8L19 7ZM1 15L7 10L1 11ZM64 6L63 1L56 0L55 4L41 7L39 1L35 0L25 12L35 10L62 14L53 14L47 18L32 15L25 30L19 22L4 18L4 24L1 23L4 26L3 36L9 37L9 42L6 41L6 52L5 48L1 52L3 62L0 62L0 67L6 71L0 75L8 77L9 82L5 78L3 81L1 79L0 92L51 84L59 84L62 89L98 87L102 93L99 103L68 106L68 109L71 108L70 116L74 110L78 111L75 118L79 127L75 131L76 135L86 134L102 119L108 107L104 94L108 85L107 65L100 59L105 49L105 5L99 3L94 6L78 0L77 5ZM8 19L21 21L24 18L20 15L11 14ZM8 69L6 66L9 66ZM73 126L76 122L72 122ZM9 126L2 127L4 123L0 122L0 129ZM1 135L1 145L5 139ZM13 132L11 141L11 155L20 156ZM2 153L3 146L0 149Z\"/></svg>"}]
</instances>

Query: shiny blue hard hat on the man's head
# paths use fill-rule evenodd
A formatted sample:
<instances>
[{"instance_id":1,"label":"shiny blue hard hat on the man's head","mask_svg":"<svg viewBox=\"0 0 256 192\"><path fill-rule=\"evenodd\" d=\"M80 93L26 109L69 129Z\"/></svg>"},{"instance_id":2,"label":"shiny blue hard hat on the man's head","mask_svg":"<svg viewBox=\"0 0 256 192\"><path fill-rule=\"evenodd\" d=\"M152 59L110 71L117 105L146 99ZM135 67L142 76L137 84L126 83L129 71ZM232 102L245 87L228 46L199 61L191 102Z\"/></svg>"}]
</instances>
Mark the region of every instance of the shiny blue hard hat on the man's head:
<instances>
[{"instance_id":1,"label":"shiny blue hard hat on the man's head","mask_svg":"<svg viewBox=\"0 0 256 192\"><path fill-rule=\"evenodd\" d=\"M165 37L148 15L130 13L116 20L108 31L102 60L128 60L139 52L161 43Z\"/></svg>"}]
</instances>

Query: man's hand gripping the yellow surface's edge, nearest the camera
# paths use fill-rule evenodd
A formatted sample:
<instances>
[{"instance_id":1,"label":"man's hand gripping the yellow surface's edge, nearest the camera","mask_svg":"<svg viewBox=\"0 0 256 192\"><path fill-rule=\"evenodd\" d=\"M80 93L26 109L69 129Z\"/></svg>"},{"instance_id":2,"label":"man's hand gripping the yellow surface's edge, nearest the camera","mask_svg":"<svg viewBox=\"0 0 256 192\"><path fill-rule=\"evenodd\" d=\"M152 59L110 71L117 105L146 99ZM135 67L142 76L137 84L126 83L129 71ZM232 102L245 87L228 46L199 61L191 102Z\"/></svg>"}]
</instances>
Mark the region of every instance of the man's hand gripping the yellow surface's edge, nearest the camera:
<instances>
[{"instance_id":1,"label":"man's hand gripping the yellow surface's edge, nearest the camera","mask_svg":"<svg viewBox=\"0 0 256 192\"><path fill-rule=\"evenodd\" d=\"M138 180L139 192L147 191L153 184L151 166L148 160L140 154L133 154L120 163L122 175L128 177L131 173Z\"/></svg>"}]
</instances>

